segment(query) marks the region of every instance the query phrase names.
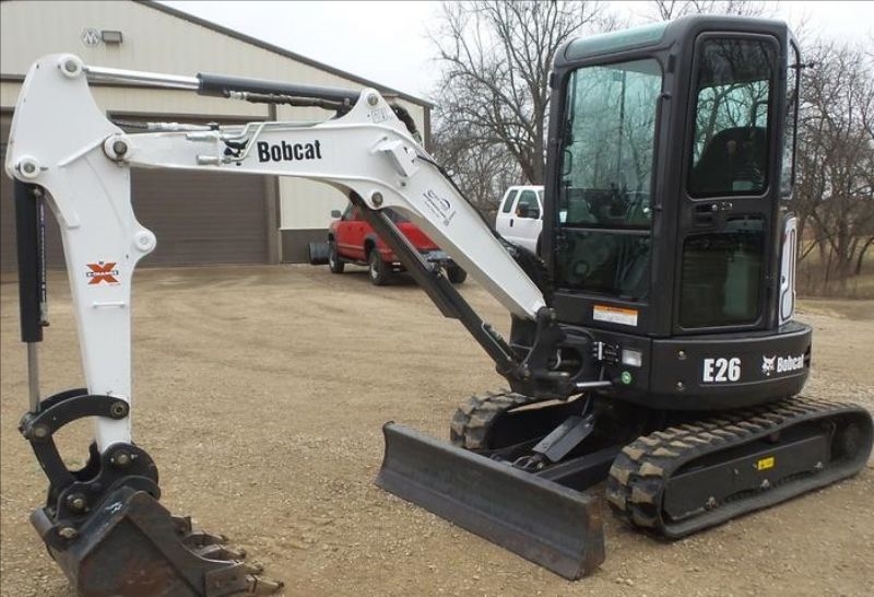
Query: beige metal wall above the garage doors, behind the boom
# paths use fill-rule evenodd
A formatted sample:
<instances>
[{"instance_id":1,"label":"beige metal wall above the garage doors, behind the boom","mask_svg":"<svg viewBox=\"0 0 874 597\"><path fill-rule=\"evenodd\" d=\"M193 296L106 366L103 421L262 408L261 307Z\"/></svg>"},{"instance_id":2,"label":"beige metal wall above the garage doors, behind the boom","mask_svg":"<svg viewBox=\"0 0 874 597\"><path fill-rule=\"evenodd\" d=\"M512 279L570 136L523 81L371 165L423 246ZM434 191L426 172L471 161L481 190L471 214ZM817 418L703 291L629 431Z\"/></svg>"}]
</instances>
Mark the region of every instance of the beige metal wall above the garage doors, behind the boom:
<instances>
[{"instance_id":1,"label":"beige metal wall above the garage doors, behind the boom","mask_svg":"<svg viewBox=\"0 0 874 597\"><path fill-rule=\"evenodd\" d=\"M86 46L82 32L87 28L120 31L123 42L117 46ZM365 83L352 75L343 77L340 71L332 72L328 67L305 63L229 37L160 8L128 0L7 0L0 3L0 73L4 75L26 73L34 60L46 54L72 52L88 65L190 77L211 72L355 90ZM0 89L2 106L13 107L17 85L4 82ZM97 98L102 106L116 113L267 115L261 105L187 92L113 87L101 89ZM420 130L427 131L425 106L406 97L398 102L410 110ZM330 116L323 110L294 114L296 119ZM285 114L281 116L284 118Z\"/></svg>"}]
</instances>

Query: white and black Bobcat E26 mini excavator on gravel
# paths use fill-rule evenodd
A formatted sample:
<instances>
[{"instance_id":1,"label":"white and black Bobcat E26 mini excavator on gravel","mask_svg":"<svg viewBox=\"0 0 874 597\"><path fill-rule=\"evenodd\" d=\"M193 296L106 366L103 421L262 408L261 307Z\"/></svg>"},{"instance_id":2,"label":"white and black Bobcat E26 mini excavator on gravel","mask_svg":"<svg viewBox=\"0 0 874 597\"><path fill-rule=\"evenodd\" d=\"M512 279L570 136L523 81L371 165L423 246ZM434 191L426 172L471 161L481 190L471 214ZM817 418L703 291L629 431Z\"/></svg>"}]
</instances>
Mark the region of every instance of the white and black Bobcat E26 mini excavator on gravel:
<instances>
[{"instance_id":1,"label":"white and black Bobcat E26 mini excavator on gravel","mask_svg":"<svg viewBox=\"0 0 874 597\"><path fill-rule=\"evenodd\" d=\"M811 328L793 319L801 63L779 22L696 16L580 38L551 77L541 257L508 246L378 92L86 66L29 70L12 122L22 337L20 430L49 479L31 520L87 596L225 596L280 584L158 502L131 436L134 266L156 246L130 168L297 176L347 192L509 389L463 403L451 443L383 428L377 483L568 578L604 559L600 503L678 538L854 475L872 418L799 396ZM126 132L91 82L321 106L320 124L150 124ZM57 216L86 387L39 396L44 206ZM511 315L508 339L422 260L382 210L416 222ZM68 470L52 436L94 419ZM147 438L144 438L147 442ZM605 483L604 483L605 481ZM604 487L605 485L605 487ZM603 489L602 489L603 488Z\"/></svg>"}]
</instances>

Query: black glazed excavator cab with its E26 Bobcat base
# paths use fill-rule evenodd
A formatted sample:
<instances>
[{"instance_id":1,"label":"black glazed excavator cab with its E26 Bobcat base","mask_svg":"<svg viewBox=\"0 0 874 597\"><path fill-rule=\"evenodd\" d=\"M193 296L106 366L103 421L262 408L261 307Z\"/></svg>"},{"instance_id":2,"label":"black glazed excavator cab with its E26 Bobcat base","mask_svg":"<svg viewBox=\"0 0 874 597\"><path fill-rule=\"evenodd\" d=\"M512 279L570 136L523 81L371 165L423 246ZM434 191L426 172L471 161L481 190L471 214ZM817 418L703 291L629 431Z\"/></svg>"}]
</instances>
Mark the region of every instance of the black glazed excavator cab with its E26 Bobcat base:
<instances>
[{"instance_id":1,"label":"black glazed excavator cab with its E26 Bobcat base","mask_svg":"<svg viewBox=\"0 0 874 597\"><path fill-rule=\"evenodd\" d=\"M791 320L783 256L799 62L786 24L732 17L557 54L542 257L572 378L670 410L801 390L811 331ZM528 350L533 328L515 323L512 343ZM592 346L607 356L589 359ZM763 372L775 354L803 366Z\"/></svg>"}]
</instances>

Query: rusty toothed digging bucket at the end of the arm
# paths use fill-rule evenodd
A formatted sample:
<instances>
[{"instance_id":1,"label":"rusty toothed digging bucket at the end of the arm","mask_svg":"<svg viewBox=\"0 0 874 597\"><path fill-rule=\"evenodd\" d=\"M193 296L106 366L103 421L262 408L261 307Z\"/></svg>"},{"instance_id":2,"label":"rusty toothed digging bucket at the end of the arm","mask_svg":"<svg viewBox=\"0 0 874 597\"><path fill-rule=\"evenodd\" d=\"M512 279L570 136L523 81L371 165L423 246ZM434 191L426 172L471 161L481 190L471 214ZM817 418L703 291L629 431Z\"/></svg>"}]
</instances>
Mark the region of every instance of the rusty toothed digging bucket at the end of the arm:
<instances>
[{"instance_id":1,"label":"rusty toothed digging bucket at the end of the arm","mask_svg":"<svg viewBox=\"0 0 874 597\"><path fill-rule=\"evenodd\" d=\"M45 510L31 522L82 597L226 597L268 595L281 583L255 576L260 567L226 559L223 537L192 531L152 495L122 487L63 541L50 538ZM57 532L57 527L54 527Z\"/></svg>"}]
</instances>

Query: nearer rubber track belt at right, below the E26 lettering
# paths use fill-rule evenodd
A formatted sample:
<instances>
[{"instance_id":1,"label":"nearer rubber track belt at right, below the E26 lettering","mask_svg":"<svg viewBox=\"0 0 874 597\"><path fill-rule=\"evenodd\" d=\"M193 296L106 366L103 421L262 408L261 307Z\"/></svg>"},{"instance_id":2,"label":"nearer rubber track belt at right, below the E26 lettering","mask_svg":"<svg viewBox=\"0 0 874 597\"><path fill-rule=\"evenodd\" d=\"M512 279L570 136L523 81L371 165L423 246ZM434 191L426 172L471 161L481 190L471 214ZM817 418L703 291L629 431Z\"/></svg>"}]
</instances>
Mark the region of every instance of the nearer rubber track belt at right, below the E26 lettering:
<instances>
[{"instance_id":1,"label":"nearer rubber track belt at right, below the E26 lettering","mask_svg":"<svg viewBox=\"0 0 874 597\"><path fill-rule=\"evenodd\" d=\"M804 421L827 420L839 414L866 417L869 421L871 417L855 405L795 397L638 437L623 448L611 468L606 488L607 502L614 514L631 527L668 538L680 538L740 514L824 487L857 472L864 466L866 454L861 459L853 457L829 463L825 470L813 477L790 480L768 491L714 504L714 507L711 506L689 519L672 523L664 520L661 514L666 482L684 464Z\"/></svg>"}]
</instances>

